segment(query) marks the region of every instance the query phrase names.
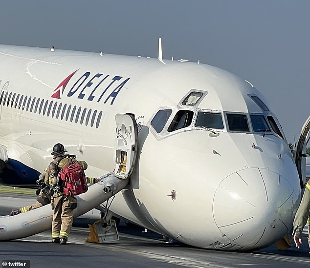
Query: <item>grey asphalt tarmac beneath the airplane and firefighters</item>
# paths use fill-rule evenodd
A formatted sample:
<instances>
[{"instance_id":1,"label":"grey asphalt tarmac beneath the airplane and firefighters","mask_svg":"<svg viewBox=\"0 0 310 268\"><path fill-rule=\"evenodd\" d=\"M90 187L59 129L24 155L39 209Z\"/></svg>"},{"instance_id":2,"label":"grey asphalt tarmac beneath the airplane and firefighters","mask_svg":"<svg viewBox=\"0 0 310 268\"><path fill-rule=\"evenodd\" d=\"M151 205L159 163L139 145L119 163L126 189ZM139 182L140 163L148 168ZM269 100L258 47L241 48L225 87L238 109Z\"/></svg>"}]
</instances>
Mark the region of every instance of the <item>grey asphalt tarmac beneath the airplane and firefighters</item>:
<instances>
[{"instance_id":1,"label":"grey asphalt tarmac beneath the airplane and firefighters","mask_svg":"<svg viewBox=\"0 0 310 268\"><path fill-rule=\"evenodd\" d=\"M0 215L11 209L33 203L34 196L0 194ZM30 267L214 267L214 268L309 268L307 235L302 248L293 245L278 250L275 245L251 252L226 252L190 247L180 243L166 243L162 236L121 221L119 240L111 243L86 243L88 224L95 221L83 218L74 221L67 245L51 243L50 231L24 239L0 242L0 261L30 261ZM8 262L7 262L8 263ZM2 268L4 268L2 264ZM8 266L6 266L8 267Z\"/></svg>"}]
</instances>

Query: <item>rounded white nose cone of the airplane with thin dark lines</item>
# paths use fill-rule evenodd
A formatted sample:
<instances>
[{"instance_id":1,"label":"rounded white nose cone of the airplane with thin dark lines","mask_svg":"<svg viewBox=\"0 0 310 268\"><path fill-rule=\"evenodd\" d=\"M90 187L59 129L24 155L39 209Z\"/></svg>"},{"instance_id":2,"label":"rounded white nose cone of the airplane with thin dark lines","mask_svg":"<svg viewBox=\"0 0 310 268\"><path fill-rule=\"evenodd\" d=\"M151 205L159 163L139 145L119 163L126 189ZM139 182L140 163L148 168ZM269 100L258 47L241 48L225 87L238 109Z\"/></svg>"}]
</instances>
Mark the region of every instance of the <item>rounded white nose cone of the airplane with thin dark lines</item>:
<instances>
[{"instance_id":1,"label":"rounded white nose cone of the airplane with thin dark lines","mask_svg":"<svg viewBox=\"0 0 310 268\"><path fill-rule=\"evenodd\" d=\"M213 199L217 227L244 249L271 245L291 228L298 193L283 176L247 168L226 177Z\"/></svg>"}]
</instances>

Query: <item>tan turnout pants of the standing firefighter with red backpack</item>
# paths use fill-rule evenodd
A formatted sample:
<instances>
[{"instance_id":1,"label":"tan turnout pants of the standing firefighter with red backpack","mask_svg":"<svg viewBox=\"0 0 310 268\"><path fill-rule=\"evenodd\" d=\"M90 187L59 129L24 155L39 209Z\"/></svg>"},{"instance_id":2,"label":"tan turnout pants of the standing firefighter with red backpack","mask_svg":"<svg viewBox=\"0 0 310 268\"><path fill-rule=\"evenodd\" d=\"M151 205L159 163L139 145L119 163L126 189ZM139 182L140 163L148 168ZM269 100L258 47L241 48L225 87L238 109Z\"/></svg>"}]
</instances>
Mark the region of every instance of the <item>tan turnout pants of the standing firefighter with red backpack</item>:
<instances>
[{"instance_id":1,"label":"tan turnout pants of the standing firefighter with red backpack","mask_svg":"<svg viewBox=\"0 0 310 268\"><path fill-rule=\"evenodd\" d=\"M76 198L68 195L52 197L53 213L52 238L68 239L73 223L73 210L76 208Z\"/></svg>"}]
</instances>

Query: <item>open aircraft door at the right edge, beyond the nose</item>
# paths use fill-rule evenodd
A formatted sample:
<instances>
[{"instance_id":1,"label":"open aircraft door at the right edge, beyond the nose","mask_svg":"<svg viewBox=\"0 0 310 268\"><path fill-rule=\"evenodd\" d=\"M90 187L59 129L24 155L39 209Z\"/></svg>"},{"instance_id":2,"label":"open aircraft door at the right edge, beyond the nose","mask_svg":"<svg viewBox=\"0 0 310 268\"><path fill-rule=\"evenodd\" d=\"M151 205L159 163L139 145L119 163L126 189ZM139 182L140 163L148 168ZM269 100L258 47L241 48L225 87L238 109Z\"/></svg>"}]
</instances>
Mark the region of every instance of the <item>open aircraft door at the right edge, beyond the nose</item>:
<instances>
[{"instance_id":1,"label":"open aircraft door at the right edge, beyond the nose","mask_svg":"<svg viewBox=\"0 0 310 268\"><path fill-rule=\"evenodd\" d=\"M298 140L296 151L295 151L295 164L297 166L300 186L305 188L306 184L306 146L310 139L310 116L306 120L305 124L301 129L300 138Z\"/></svg>"}]
</instances>

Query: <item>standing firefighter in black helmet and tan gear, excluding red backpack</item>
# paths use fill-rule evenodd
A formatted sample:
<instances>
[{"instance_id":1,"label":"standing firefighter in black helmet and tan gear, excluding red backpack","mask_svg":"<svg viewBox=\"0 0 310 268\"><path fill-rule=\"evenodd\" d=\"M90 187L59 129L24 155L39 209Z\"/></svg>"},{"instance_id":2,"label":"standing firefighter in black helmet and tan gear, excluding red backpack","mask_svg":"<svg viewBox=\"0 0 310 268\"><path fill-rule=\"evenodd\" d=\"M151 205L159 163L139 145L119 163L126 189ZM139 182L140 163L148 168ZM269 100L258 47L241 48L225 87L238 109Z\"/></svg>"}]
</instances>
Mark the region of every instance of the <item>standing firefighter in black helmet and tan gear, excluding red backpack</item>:
<instances>
[{"instance_id":1,"label":"standing firefighter in black helmet and tan gear, excluding red backpack","mask_svg":"<svg viewBox=\"0 0 310 268\"><path fill-rule=\"evenodd\" d=\"M52 221L52 242L66 245L73 222L73 210L76 208L76 198L72 195L66 195L63 191L63 185L57 181L57 175L60 170L69 165L69 157L65 157L66 149L63 144L55 144L53 147L53 161L48 165L45 174L45 184L52 186L53 195L51 197L51 206L54 210ZM73 163L77 162L82 168L87 169L84 161L70 159Z\"/></svg>"}]
</instances>

